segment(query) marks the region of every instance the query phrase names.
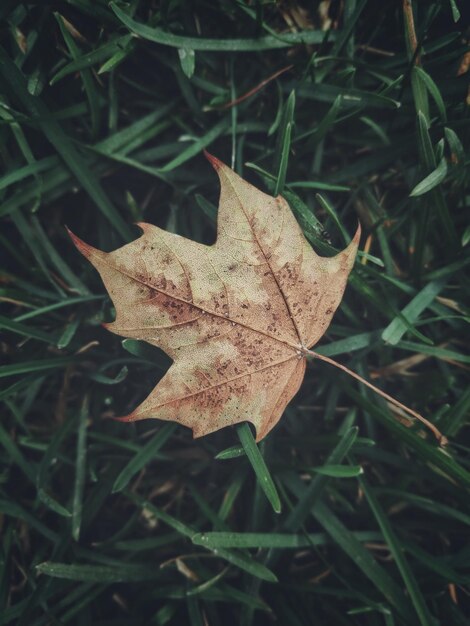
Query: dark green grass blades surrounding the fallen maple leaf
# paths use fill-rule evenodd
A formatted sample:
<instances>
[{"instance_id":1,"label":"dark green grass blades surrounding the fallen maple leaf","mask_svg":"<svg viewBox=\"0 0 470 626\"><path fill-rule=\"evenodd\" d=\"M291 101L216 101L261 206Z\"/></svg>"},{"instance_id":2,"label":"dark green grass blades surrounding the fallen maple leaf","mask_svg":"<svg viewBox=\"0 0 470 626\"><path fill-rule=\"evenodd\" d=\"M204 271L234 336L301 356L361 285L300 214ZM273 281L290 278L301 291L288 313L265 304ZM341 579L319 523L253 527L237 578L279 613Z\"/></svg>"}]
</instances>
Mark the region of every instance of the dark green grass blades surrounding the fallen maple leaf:
<instances>
[{"instance_id":1,"label":"dark green grass blades surrounding the fallen maple leaf","mask_svg":"<svg viewBox=\"0 0 470 626\"><path fill-rule=\"evenodd\" d=\"M1 3L0 624L466 623L468 8L413 2L413 25L345 0L321 30L318 4ZM320 362L259 448L247 425L106 419L169 360L101 327L65 225L105 250L139 220L212 242L205 148L322 254L361 221L316 349L446 449Z\"/></svg>"}]
</instances>

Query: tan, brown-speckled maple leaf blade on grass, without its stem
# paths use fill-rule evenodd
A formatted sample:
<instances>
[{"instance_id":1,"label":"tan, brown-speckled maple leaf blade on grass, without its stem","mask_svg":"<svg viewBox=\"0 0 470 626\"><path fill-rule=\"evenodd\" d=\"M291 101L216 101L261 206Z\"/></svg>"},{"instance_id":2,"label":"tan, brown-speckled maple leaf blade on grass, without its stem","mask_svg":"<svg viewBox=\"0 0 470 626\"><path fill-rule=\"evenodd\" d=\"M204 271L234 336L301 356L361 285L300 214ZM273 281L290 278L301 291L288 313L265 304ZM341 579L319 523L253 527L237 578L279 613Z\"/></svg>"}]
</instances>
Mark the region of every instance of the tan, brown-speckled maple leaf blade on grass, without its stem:
<instances>
[{"instance_id":1,"label":"tan, brown-speckled maple leaf blade on grass, without its stem","mask_svg":"<svg viewBox=\"0 0 470 626\"><path fill-rule=\"evenodd\" d=\"M268 196L218 159L217 241L196 243L150 224L109 254L71 234L116 308L107 325L172 359L130 415L174 420L195 437L252 422L259 441L302 382L308 348L326 331L354 263L360 228L332 258L312 250L281 196Z\"/></svg>"}]
</instances>

